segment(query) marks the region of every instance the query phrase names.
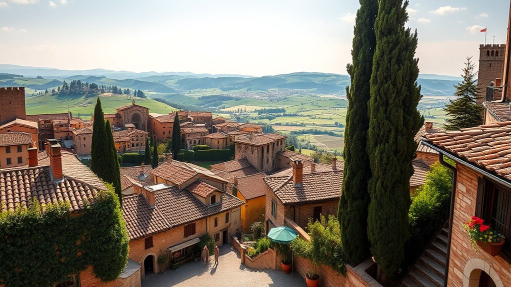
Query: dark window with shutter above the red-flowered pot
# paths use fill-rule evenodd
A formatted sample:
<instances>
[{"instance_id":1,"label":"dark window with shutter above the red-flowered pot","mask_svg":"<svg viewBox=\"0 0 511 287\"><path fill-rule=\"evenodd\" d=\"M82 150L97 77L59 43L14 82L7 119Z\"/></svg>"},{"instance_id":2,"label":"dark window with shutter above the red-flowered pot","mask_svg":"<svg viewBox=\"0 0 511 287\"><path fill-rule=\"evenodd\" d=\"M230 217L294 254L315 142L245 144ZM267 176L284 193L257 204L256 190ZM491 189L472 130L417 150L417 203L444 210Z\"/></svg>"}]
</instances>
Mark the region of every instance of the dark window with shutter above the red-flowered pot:
<instances>
[{"instance_id":1,"label":"dark window with shutter above the red-flowered pot","mask_svg":"<svg viewBox=\"0 0 511 287\"><path fill-rule=\"evenodd\" d=\"M476 216L511 238L511 190L484 178L479 178L477 184ZM511 259L511 244L507 241L502 253Z\"/></svg>"}]
</instances>

